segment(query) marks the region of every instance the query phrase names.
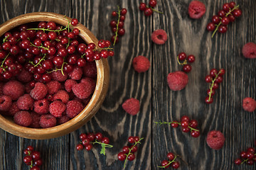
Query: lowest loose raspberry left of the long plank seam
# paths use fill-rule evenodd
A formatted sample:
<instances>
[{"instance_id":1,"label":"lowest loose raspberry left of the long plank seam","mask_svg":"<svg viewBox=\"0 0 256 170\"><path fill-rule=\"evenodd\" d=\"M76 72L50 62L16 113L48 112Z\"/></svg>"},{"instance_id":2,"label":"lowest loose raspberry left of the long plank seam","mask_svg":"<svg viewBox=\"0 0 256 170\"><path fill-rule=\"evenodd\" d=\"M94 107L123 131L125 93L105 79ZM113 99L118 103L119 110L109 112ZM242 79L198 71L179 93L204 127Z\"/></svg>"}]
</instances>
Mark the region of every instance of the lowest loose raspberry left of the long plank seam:
<instances>
[{"instance_id":1,"label":"lowest loose raspberry left of the long plank seam","mask_svg":"<svg viewBox=\"0 0 256 170\"><path fill-rule=\"evenodd\" d=\"M122 108L130 115L137 115L139 112L139 100L136 98L129 98L122 103Z\"/></svg>"}]
</instances>

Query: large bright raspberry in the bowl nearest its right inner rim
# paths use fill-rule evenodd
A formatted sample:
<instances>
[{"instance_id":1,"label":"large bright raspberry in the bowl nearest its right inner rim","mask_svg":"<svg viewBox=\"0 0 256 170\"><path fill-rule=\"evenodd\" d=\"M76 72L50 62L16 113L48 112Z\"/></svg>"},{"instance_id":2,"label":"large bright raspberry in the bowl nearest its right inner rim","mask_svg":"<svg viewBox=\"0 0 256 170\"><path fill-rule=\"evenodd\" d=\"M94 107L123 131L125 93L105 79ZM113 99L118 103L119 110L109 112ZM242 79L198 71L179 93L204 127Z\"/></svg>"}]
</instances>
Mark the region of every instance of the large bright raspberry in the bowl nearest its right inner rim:
<instances>
[{"instance_id":1,"label":"large bright raspberry in the bowl nearest its right inner rim","mask_svg":"<svg viewBox=\"0 0 256 170\"><path fill-rule=\"evenodd\" d=\"M72 91L80 99L85 99L92 94L92 86L90 85L89 82L87 84L80 83L80 84L74 84L72 86Z\"/></svg>"}]
</instances>

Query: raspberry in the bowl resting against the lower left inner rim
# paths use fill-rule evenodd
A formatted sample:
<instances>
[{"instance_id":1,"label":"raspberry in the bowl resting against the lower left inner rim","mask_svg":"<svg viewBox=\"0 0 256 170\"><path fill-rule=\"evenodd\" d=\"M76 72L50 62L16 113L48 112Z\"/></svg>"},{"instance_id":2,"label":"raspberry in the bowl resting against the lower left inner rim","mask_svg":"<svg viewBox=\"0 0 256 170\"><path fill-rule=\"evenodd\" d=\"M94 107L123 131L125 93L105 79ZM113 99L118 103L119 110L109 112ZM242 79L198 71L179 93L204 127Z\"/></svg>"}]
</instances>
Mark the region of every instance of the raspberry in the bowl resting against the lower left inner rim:
<instances>
[{"instance_id":1,"label":"raspberry in the bowl resting against the lower left inner rim","mask_svg":"<svg viewBox=\"0 0 256 170\"><path fill-rule=\"evenodd\" d=\"M28 127L32 123L31 114L28 111L19 111L14 115L14 122L18 125Z\"/></svg>"}]
</instances>

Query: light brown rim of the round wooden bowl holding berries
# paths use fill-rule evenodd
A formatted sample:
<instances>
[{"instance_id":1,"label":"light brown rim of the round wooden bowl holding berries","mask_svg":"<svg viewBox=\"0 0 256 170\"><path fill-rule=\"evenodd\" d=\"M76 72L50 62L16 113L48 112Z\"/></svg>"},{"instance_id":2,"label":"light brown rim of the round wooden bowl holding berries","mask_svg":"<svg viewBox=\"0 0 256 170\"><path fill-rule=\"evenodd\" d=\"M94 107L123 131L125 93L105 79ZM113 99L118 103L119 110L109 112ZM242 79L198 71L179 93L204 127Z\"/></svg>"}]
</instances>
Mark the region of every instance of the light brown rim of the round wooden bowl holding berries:
<instances>
[{"instance_id":1,"label":"light brown rim of the round wooden bowl holding berries","mask_svg":"<svg viewBox=\"0 0 256 170\"><path fill-rule=\"evenodd\" d=\"M58 13L48 13L48 12L36 12L36 13L26 13L16 18L12 18L9 21L1 24L0 26L0 37L4 35L7 31L20 26L24 23L38 22L38 21L54 21L62 26L68 25L68 20L71 18L67 16L60 15ZM70 27L72 28L72 27ZM75 28L80 30L80 37L85 40L85 42L94 42L97 45L97 38L93 35L90 30L85 28L82 24L78 23ZM10 132L13 135L20 137L26 137L34 140L44 140L54 137L59 137L66 135L74 130L77 130L82 125L92 118L95 113L100 109L102 102L107 94L109 78L110 78L110 68L107 60L101 59L96 61L97 66L97 83L95 87L94 94L87 106L79 113L75 118L69 120L67 123L62 125L57 125L53 128L26 128L21 125L14 123L12 118L5 118L0 115L0 128Z\"/></svg>"}]
</instances>

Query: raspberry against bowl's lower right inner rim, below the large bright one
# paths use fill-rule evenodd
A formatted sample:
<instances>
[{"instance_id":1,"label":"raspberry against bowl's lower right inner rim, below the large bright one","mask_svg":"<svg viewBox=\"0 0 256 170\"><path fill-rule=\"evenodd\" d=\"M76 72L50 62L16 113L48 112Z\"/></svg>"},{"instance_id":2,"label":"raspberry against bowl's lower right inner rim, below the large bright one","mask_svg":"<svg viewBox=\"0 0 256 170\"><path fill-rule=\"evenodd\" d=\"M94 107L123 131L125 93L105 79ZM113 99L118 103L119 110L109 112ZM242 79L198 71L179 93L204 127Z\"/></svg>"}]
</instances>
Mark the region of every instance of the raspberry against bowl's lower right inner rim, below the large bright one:
<instances>
[{"instance_id":1,"label":"raspberry against bowl's lower right inner rim, below the large bright one","mask_svg":"<svg viewBox=\"0 0 256 170\"><path fill-rule=\"evenodd\" d=\"M82 106L82 103L77 100L68 101L67 103L67 115L69 118L74 118L76 115L78 115L84 107Z\"/></svg>"}]
</instances>

